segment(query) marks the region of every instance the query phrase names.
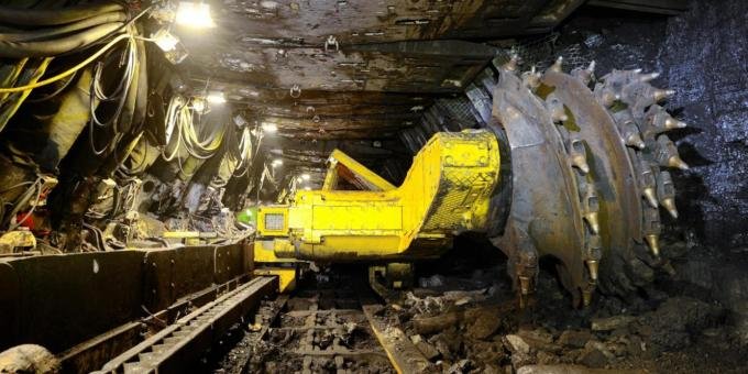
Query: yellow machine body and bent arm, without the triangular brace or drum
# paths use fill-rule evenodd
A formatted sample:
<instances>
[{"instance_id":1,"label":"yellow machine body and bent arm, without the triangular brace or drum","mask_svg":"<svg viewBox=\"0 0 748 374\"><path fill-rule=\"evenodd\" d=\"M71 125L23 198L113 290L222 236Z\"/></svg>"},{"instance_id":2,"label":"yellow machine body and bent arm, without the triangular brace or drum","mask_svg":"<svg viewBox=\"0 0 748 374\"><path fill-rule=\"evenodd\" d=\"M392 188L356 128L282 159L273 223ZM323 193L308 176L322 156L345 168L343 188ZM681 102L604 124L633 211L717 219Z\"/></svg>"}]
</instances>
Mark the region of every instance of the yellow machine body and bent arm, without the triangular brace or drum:
<instances>
[{"instance_id":1,"label":"yellow machine body and bent arm, without the triangular brace or drum","mask_svg":"<svg viewBox=\"0 0 748 374\"><path fill-rule=\"evenodd\" d=\"M437 133L416 155L400 187L297 191L287 206L262 208L283 215L287 231L268 230L261 216L258 233L289 239L289 245L276 250L280 257L437 256L455 233L485 229L498 173L498 143L493 133Z\"/></svg>"}]
</instances>

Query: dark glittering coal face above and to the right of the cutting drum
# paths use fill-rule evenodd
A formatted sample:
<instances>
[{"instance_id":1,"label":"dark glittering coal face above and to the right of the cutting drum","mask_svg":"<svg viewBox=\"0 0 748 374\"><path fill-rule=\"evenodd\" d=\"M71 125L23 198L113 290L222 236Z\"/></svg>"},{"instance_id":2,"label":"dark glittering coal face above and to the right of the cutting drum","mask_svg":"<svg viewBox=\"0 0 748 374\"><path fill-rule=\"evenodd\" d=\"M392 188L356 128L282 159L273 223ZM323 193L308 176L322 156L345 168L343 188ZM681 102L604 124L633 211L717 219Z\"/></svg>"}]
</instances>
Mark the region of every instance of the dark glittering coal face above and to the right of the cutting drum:
<instances>
[{"instance_id":1,"label":"dark glittering coal face above and to the right of the cutting drum","mask_svg":"<svg viewBox=\"0 0 748 374\"><path fill-rule=\"evenodd\" d=\"M668 107L690 128L671 133L692 168L675 172L681 219L707 244L748 244L748 1L691 1L678 16L582 10L553 53L595 59L597 72L640 67L676 95ZM667 216L667 215L663 215ZM675 222L667 222L675 223Z\"/></svg>"}]
</instances>

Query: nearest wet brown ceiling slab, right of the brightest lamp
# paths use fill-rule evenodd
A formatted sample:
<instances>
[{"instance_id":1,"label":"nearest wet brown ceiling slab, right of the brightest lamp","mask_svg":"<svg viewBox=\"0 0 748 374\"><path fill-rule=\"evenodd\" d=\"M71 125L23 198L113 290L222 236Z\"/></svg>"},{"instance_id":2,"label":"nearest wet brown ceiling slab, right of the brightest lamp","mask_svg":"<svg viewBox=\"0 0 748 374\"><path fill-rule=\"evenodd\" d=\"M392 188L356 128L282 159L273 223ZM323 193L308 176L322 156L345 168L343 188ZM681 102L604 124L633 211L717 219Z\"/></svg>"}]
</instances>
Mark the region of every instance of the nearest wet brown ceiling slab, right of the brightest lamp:
<instances>
[{"instance_id":1,"label":"nearest wet brown ceiling slab, right of the brightest lamp","mask_svg":"<svg viewBox=\"0 0 748 374\"><path fill-rule=\"evenodd\" d=\"M218 28L182 34L184 68L264 89L455 92L495 53L458 40L548 31L580 3L216 1Z\"/></svg>"}]
</instances>

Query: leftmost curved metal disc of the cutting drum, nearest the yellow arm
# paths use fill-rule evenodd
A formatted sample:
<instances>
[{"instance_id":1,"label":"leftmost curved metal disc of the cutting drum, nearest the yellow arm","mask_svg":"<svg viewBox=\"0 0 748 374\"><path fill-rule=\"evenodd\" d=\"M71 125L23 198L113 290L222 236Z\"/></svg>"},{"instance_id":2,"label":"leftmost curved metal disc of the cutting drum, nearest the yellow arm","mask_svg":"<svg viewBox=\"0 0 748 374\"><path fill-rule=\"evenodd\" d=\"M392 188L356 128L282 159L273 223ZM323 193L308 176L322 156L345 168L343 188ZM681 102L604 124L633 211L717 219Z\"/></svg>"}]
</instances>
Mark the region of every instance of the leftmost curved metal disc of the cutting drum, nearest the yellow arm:
<instances>
[{"instance_id":1,"label":"leftmost curved metal disc of the cutting drum, nearest the yellow arm","mask_svg":"<svg viewBox=\"0 0 748 374\"><path fill-rule=\"evenodd\" d=\"M492 116L512 147L513 196L507 229L494 242L509 256L510 276L534 278L532 261L551 255L570 284L583 284L584 222L564 145L542 101L514 73L499 75ZM532 258L532 253L535 258ZM522 264L529 267L517 268ZM537 265L536 265L537 266Z\"/></svg>"}]
</instances>

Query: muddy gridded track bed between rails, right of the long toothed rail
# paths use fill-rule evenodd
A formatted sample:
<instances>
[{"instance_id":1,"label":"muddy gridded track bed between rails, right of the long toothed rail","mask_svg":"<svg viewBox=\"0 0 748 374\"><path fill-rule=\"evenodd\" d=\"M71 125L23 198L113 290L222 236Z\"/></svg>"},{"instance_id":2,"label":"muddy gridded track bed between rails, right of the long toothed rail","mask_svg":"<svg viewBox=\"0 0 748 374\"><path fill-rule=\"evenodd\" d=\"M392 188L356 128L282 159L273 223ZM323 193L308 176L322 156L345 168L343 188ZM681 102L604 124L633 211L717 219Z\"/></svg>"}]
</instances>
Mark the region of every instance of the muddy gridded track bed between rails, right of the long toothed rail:
<instances>
[{"instance_id":1,"label":"muddy gridded track bed between rails, right of the long toothed rail","mask_svg":"<svg viewBox=\"0 0 748 374\"><path fill-rule=\"evenodd\" d=\"M342 275L266 301L255 328L213 373L416 373L428 361L393 323L365 280Z\"/></svg>"}]
</instances>

